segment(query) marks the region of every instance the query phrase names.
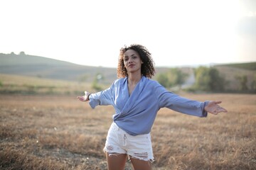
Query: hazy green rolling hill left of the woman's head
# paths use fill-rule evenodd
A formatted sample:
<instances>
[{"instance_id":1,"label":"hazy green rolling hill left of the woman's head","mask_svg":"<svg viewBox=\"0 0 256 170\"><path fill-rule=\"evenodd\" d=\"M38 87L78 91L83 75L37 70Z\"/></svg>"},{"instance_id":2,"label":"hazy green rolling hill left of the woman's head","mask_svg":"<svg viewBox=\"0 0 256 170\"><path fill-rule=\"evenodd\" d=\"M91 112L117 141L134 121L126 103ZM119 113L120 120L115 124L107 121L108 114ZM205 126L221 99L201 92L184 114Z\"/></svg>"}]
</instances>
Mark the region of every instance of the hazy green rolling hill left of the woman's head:
<instances>
[{"instance_id":1,"label":"hazy green rolling hill left of the woman's head","mask_svg":"<svg viewBox=\"0 0 256 170\"><path fill-rule=\"evenodd\" d=\"M0 73L21 76L58 79L66 81L88 81L102 74L102 83L109 84L116 79L116 69L90 67L46 57L0 53Z\"/></svg>"}]
</instances>

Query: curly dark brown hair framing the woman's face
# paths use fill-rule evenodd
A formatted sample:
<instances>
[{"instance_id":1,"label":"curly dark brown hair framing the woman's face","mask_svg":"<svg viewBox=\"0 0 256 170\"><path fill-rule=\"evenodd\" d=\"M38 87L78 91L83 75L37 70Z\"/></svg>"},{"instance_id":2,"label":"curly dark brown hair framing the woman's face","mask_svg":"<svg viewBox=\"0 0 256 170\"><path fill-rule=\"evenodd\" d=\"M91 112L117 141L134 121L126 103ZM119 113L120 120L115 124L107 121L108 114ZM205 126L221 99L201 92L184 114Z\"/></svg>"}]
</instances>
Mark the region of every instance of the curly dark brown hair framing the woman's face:
<instances>
[{"instance_id":1,"label":"curly dark brown hair framing the woman's face","mask_svg":"<svg viewBox=\"0 0 256 170\"><path fill-rule=\"evenodd\" d=\"M151 79L155 74L154 61L152 60L151 53L143 45L126 45L120 49L119 60L117 66L117 77L123 78L128 77L127 69L124 66L124 52L127 50L134 50L138 52L140 59L142 60L142 75Z\"/></svg>"}]
</instances>

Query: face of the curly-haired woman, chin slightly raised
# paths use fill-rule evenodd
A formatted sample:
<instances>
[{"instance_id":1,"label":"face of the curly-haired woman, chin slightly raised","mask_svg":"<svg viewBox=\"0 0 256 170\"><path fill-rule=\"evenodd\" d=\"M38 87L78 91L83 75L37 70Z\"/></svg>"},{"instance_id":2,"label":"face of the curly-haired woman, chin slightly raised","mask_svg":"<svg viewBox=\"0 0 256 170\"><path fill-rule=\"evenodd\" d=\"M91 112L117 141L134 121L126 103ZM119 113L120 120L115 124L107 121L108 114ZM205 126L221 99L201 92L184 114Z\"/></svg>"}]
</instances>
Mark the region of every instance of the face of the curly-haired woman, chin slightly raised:
<instances>
[{"instance_id":1,"label":"face of the curly-haired woman, chin slightly raised","mask_svg":"<svg viewBox=\"0 0 256 170\"><path fill-rule=\"evenodd\" d=\"M124 52L124 66L127 72L141 72L142 63L138 52L135 50L127 50Z\"/></svg>"}]
</instances>

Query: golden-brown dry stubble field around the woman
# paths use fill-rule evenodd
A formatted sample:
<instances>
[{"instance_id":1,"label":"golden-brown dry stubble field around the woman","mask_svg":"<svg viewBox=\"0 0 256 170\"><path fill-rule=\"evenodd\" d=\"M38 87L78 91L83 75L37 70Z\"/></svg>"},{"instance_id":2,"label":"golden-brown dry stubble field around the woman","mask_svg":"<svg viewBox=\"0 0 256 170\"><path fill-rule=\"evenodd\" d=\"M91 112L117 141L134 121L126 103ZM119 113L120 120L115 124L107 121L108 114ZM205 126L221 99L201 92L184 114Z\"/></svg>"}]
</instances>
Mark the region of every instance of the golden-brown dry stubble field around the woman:
<instances>
[{"instance_id":1,"label":"golden-brown dry stubble field around the woman","mask_svg":"<svg viewBox=\"0 0 256 170\"><path fill-rule=\"evenodd\" d=\"M256 169L256 95L181 96L221 100L228 113L197 118L161 109L151 131L153 169ZM111 106L92 109L76 96L1 95L0 107L0 169L107 169Z\"/></svg>"}]
</instances>

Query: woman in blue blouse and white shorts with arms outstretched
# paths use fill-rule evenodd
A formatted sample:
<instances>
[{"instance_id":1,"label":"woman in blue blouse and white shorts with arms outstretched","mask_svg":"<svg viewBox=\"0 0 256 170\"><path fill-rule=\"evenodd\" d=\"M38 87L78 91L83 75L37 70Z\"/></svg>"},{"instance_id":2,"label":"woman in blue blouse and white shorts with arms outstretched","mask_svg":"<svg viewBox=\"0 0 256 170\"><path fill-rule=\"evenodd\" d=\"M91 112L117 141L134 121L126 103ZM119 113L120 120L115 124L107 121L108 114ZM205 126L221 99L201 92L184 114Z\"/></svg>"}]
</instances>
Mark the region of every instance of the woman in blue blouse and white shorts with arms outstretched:
<instances>
[{"instance_id":1,"label":"woman in blue blouse and white shorts with arms outstretched","mask_svg":"<svg viewBox=\"0 0 256 170\"><path fill-rule=\"evenodd\" d=\"M227 112L218 106L221 101L192 101L166 91L157 81L151 53L142 45L121 48L117 67L118 78L105 91L78 96L90 106L112 105L113 123L107 134L104 151L108 169L124 169L127 157L134 169L151 169L153 152L151 127L160 108L206 117L208 113Z\"/></svg>"}]
</instances>

